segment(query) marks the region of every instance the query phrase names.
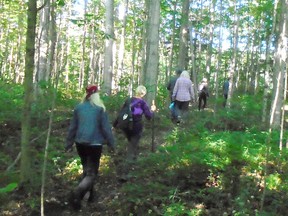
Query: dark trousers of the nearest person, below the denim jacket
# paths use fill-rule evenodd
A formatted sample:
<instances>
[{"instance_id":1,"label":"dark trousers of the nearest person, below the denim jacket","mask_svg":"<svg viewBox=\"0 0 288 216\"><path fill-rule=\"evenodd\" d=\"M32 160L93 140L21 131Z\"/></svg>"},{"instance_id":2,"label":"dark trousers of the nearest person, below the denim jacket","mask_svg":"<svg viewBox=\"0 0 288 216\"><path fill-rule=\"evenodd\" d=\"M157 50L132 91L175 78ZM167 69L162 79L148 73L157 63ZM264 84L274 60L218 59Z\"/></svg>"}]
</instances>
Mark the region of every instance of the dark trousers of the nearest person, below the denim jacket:
<instances>
[{"instance_id":1,"label":"dark trousers of the nearest person, below the denim jacket","mask_svg":"<svg viewBox=\"0 0 288 216\"><path fill-rule=\"evenodd\" d=\"M83 166L83 178L75 190L75 196L81 200L88 191L93 193L93 186L100 165L102 146L76 143L76 148Z\"/></svg>"}]
</instances>

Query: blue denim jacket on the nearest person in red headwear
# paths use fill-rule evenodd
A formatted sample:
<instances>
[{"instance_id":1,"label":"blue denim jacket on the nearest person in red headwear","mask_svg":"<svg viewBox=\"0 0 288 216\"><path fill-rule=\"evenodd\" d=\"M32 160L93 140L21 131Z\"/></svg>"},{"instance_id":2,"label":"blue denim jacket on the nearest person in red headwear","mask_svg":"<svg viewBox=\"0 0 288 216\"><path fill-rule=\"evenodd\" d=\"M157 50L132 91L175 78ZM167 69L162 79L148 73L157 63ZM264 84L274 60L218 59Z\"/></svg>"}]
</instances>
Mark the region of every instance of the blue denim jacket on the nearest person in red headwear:
<instances>
[{"instance_id":1,"label":"blue denim jacket on the nearest person in red headwear","mask_svg":"<svg viewBox=\"0 0 288 216\"><path fill-rule=\"evenodd\" d=\"M102 107L92 105L89 101L78 104L68 130L66 148L74 142L102 145L105 141L108 146L115 147L107 113Z\"/></svg>"}]
</instances>

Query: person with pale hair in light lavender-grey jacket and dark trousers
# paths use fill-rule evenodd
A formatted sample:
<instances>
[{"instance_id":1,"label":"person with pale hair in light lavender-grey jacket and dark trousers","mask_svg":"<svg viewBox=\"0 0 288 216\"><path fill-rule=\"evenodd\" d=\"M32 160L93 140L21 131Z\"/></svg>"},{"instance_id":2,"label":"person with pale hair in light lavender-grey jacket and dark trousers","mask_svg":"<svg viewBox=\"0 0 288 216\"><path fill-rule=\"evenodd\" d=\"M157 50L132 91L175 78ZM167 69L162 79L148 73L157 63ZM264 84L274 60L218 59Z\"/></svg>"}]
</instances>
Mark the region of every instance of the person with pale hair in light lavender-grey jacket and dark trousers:
<instances>
[{"instance_id":1,"label":"person with pale hair in light lavender-grey jacket and dark trousers","mask_svg":"<svg viewBox=\"0 0 288 216\"><path fill-rule=\"evenodd\" d=\"M187 113L190 101L193 103L195 100L193 83L190 80L188 71L184 70L177 79L173 89L172 100L176 106L176 123L180 123L180 118L183 117L181 115Z\"/></svg>"}]
</instances>

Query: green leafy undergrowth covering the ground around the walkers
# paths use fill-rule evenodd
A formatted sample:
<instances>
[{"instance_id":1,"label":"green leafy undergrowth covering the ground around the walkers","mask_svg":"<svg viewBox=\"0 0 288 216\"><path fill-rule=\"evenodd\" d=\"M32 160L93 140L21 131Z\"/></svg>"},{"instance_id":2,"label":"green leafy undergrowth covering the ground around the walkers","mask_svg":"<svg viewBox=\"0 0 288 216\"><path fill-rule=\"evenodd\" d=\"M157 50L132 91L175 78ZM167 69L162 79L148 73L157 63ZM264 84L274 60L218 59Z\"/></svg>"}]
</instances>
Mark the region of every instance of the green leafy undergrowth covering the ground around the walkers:
<instances>
[{"instance_id":1,"label":"green leafy undergrowth covering the ground around the walkers","mask_svg":"<svg viewBox=\"0 0 288 216\"><path fill-rule=\"evenodd\" d=\"M34 112L31 142L35 187L27 192L18 187L21 118L15 113L21 107L21 91L14 91L13 100L3 93L1 100L10 100L0 105L1 215L40 215L41 169L49 118L49 112L43 110L49 105L39 98L41 107ZM59 98L50 139L45 215L287 215L287 150L279 150L278 132L273 132L267 143L268 133L260 124L261 106L254 96L237 97L237 105L229 110L221 106L214 110L213 103L218 102L213 98L201 112L194 104L180 125L170 121L169 110L160 98L158 107L162 108L154 124L145 121L139 159L128 180L119 178L125 166L127 141L115 131L117 151L109 154L104 147L96 200L83 201L81 211L75 212L67 200L82 170L75 149L65 153L64 143L77 99L67 102L61 95ZM121 97L105 100L112 121ZM151 152L153 130L155 152Z\"/></svg>"}]
</instances>

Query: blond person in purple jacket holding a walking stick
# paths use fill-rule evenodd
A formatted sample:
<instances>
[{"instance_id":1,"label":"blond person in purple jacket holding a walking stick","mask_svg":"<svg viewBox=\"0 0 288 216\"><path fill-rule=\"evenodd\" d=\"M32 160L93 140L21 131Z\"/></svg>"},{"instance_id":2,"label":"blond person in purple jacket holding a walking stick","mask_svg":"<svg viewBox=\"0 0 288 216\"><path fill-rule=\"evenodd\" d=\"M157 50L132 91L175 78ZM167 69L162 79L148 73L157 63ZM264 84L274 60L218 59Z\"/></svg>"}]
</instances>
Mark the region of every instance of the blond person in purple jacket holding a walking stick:
<instances>
[{"instance_id":1,"label":"blond person in purple jacket holding a walking stick","mask_svg":"<svg viewBox=\"0 0 288 216\"><path fill-rule=\"evenodd\" d=\"M143 131L142 116L150 120L153 117L153 112L156 110L156 106L152 105L151 110L148 107L143 97L146 95L146 87L140 85L135 90L135 96L131 99L127 99L123 105L129 106L131 104L133 124L131 128L122 129L125 137L128 140L127 146L127 161L133 162L137 160L139 141ZM130 104L129 104L130 103ZM122 108L123 108L122 107ZM118 120L116 119L113 123L113 128L117 128Z\"/></svg>"}]
</instances>

